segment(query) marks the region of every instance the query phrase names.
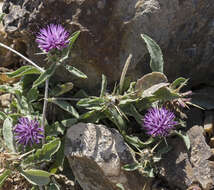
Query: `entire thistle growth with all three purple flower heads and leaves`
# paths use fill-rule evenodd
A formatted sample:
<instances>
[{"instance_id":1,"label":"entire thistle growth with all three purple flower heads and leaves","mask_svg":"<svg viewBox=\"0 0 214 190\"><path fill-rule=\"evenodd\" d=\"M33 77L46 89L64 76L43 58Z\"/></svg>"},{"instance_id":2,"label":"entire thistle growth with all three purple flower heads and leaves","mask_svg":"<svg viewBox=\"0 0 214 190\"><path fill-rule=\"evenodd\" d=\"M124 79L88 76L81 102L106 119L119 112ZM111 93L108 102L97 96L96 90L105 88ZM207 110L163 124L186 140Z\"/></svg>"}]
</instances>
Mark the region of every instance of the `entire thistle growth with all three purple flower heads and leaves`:
<instances>
[{"instance_id":1,"label":"entire thistle growth with all three purple flower heads and leaves","mask_svg":"<svg viewBox=\"0 0 214 190\"><path fill-rule=\"evenodd\" d=\"M13 162L11 164L13 167L10 163L5 164L4 177L0 176L0 180L5 180L10 176L16 167L15 170L32 185L37 185L42 189L51 184L53 187L54 184L55 189L59 189L51 176L64 164L63 143L66 128L82 121L103 123L117 128L136 156L135 163L123 168L128 171L139 169L146 176L154 177L155 172L158 171L155 163L160 161L162 154L171 148L169 145L166 146L163 139L170 138L175 132L174 134L184 139L189 148L188 136L178 131L180 122L174 114L174 107L168 109L166 106L169 102L173 104L181 100L185 101L185 104L189 103L189 99L183 99L184 94L180 93L180 89L186 84L186 79L178 78L171 84L168 82L163 73L164 62L161 49L146 35L142 35L142 38L151 55L152 72L137 81L129 81L126 78L132 59L130 55L125 63L119 84L115 84L111 93L107 89L107 78L104 75L102 75L99 96L88 96L81 89L75 94L75 98L61 97L73 89L73 83L57 84L57 88L49 85L49 79L59 65L75 77L87 78L77 68L64 62L69 57L70 50L79 34L80 32L77 31L70 36L60 24L49 24L38 32L36 43L42 51L39 54L45 55L45 60L51 63L46 69L0 43L0 46L16 53L31 64L7 73L7 76L11 78L22 77L18 83L0 85L1 92L10 93L14 97L10 107L0 112L0 119L4 120L5 145L3 143L2 148L9 152ZM35 80L32 81L31 76L35 77ZM45 92L40 94L44 83ZM74 104L72 105L69 100L78 102L76 106L73 106ZM48 122L46 118L48 102L67 111L69 119ZM78 109L80 107L81 109ZM41 140L42 145L40 145ZM24 154L23 150L17 152L14 143L28 146L31 151ZM50 166L48 172L38 169L38 166L44 163L45 166ZM0 181L0 187L1 184L3 184L2 181Z\"/></svg>"}]
</instances>

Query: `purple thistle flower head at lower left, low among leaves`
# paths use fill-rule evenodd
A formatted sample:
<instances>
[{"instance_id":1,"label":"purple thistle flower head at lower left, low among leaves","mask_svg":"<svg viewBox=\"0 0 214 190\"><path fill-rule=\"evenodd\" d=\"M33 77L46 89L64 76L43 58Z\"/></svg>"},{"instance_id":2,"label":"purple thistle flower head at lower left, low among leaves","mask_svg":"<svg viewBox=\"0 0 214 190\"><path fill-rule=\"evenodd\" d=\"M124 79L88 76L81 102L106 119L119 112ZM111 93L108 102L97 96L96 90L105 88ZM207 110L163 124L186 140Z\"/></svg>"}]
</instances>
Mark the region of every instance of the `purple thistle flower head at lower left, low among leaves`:
<instances>
[{"instance_id":1,"label":"purple thistle flower head at lower left, low among leaves","mask_svg":"<svg viewBox=\"0 0 214 190\"><path fill-rule=\"evenodd\" d=\"M43 132L44 130L39 127L36 119L30 120L27 117L20 118L18 124L14 126L17 143L24 146L40 143L40 140L44 138Z\"/></svg>"}]
</instances>

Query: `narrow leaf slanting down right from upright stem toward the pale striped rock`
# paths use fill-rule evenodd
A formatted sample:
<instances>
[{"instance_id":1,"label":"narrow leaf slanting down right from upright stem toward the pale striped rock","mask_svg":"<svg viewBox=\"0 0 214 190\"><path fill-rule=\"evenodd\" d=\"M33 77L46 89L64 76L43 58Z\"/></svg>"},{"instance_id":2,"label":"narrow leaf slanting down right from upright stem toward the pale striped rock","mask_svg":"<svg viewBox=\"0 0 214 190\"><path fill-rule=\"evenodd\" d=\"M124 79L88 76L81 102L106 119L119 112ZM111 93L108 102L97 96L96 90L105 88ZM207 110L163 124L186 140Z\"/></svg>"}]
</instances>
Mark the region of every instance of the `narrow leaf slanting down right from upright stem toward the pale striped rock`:
<instances>
[{"instance_id":1,"label":"narrow leaf slanting down right from upright stem toward the pale striped rock","mask_svg":"<svg viewBox=\"0 0 214 190\"><path fill-rule=\"evenodd\" d=\"M62 101L62 100L57 100L55 98L49 98L48 99L49 102L56 104L57 106L59 106L60 108L62 108L63 110L71 113L74 117L79 118L79 113L76 111L76 109L69 104L66 101Z\"/></svg>"}]
</instances>

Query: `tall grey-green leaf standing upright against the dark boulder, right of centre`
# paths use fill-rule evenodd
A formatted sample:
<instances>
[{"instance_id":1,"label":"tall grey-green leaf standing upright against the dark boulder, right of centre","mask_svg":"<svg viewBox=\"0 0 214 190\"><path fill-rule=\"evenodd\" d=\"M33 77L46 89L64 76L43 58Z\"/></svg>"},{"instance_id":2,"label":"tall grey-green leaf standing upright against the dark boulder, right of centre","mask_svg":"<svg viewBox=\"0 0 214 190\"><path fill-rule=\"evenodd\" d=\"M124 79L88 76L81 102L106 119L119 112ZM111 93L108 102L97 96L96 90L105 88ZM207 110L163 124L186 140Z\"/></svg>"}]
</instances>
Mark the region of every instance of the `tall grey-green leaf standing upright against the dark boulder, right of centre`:
<instances>
[{"instance_id":1,"label":"tall grey-green leaf standing upright against the dark boulder, right of centre","mask_svg":"<svg viewBox=\"0 0 214 190\"><path fill-rule=\"evenodd\" d=\"M163 73L164 61L163 61L163 54L159 45L146 34L141 34L141 37L145 41L151 57L150 67L152 71L158 71Z\"/></svg>"}]
</instances>

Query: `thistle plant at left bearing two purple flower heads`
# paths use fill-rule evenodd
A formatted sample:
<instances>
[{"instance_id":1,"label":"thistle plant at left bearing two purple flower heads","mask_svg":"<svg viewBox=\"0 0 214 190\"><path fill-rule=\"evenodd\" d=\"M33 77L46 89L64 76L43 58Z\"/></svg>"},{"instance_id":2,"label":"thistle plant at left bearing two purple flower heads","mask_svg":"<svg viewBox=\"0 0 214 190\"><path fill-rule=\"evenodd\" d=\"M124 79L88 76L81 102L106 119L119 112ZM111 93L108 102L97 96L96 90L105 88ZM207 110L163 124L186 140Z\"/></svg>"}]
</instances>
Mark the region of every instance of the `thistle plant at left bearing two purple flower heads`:
<instances>
[{"instance_id":1,"label":"thistle plant at left bearing two purple flower heads","mask_svg":"<svg viewBox=\"0 0 214 190\"><path fill-rule=\"evenodd\" d=\"M38 64L16 50L0 43L1 47L12 51L31 64L22 66L16 71L6 73L11 78L22 77L18 83L14 85L0 85L1 92L10 93L13 96L9 108L4 109L4 112L0 112L0 119L4 120L2 131L4 143L0 148L7 152L7 155L13 157L12 162L15 163L16 167L14 170L14 164L6 164L3 176L0 176L0 187L7 177L11 176L14 172L19 172L32 185L39 186L40 189L44 185L59 188L55 180L50 178L52 176L51 173L38 169L38 166L41 164L46 165L50 162L55 153L63 150L56 128L61 128L64 134L65 126L59 125L59 122L52 125L46 122L47 103L50 101L66 111L70 110L70 114L76 118L79 117L79 114L70 103L57 101L56 98L48 98L49 91L52 96L59 96L70 91L73 84L70 82L69 84L57 85L59 88L56 90L49 87L49 79L54 75L59 65L63 65L65 69L76 77L87 78L84 73L75 67L64 64L79 34L80 32L77 31L70 35L60 24L50 24L39 31L36 36L36 42L42 50L41 54L44 54L46 60L51 62L51 65L47 69L41 68ZM32 81L32 78L35 78L35 80ZM31 82L29 83L29 81ZM40 95L38 90L38 87L41 87L43 83L45 83L44 96ZM44 97L42 113L40 113L41 97ZM63 120L60 123L69 125L74 124L76 121L77 119L71 118ZM40 145L41 140L42 146ZM24 149L19 149L18 146L14 145L15 143L21 145ZM30 148L31 151L22 154L23 151L27 150L25 147ZM54 164L53 169L56 172L63 165L64 155L58 154L55 159L57 160L57 164Z\"/></svg>"}]
</instances>

